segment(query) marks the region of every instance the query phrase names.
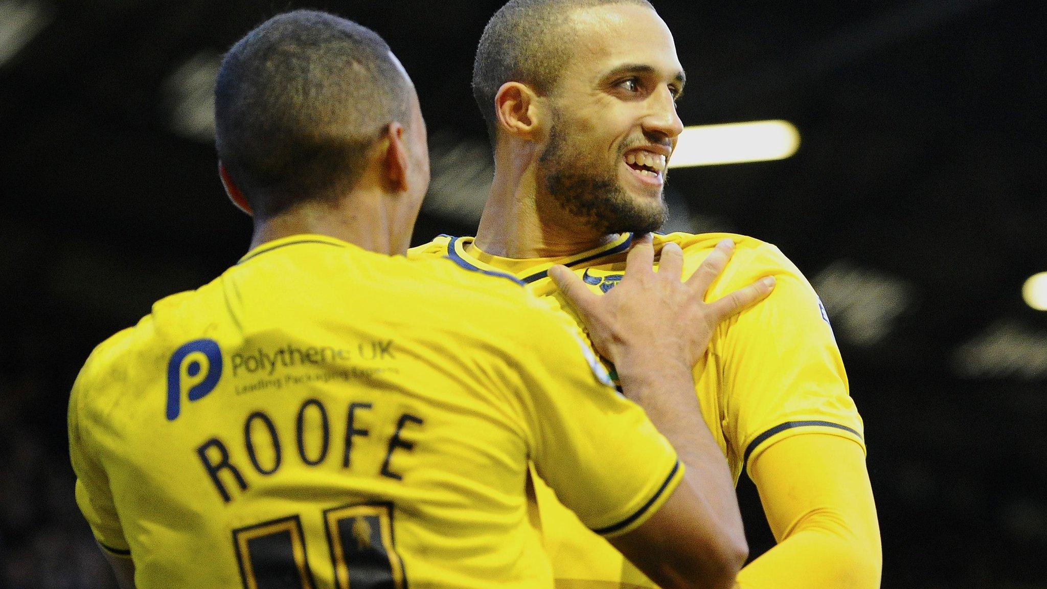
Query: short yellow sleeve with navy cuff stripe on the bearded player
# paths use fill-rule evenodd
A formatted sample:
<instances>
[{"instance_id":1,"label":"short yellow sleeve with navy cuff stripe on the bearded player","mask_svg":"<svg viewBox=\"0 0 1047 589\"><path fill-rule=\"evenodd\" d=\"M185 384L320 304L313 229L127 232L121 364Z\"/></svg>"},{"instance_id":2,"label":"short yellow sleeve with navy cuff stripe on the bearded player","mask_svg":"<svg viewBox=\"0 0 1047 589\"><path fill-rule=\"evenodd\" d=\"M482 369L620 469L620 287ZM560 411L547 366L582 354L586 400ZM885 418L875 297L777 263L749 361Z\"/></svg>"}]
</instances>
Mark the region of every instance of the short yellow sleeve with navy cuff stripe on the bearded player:
<instances>
[{"instance_id":1,"label":"short yellow sleeve with navy cuff stripe on the bearded player","mask_svg":"<svg viewBox=\"0 0 1047 589\"><path fill-rule=\"evenodd\" d=\"M843 436L864 450L862 418L828 317L777 247L741 238L708 299L768 275L777 279L771 296L722 325L712 349L723 370L722 423L735 456L748 465L774 442L807 432Z\"/></svg>"}]
</instances>

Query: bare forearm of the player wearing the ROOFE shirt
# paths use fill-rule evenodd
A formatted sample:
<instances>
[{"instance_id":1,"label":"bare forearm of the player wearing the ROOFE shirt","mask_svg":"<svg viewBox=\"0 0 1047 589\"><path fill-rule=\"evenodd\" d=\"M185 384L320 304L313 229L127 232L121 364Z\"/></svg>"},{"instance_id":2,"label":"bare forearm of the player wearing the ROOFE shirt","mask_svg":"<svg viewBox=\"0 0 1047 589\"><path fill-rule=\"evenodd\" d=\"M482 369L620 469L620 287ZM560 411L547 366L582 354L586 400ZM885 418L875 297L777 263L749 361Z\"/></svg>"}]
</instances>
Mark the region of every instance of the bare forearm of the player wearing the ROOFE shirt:
<instances>
[{"instance_id":1,"label":"bare forearm of the player wearing the ROOFE shirt","mask_svg":"<svg viewBox=\"0 0 1047 589\"><path fill-rule=\"evenodd\" d=\"M684 480L701 499L699 526L721 562L744 563L749 548L727 460L701 417L690 367L634 357L616 366L626 397L640 405L686 465Z\"/></svg>"}]
</instances>

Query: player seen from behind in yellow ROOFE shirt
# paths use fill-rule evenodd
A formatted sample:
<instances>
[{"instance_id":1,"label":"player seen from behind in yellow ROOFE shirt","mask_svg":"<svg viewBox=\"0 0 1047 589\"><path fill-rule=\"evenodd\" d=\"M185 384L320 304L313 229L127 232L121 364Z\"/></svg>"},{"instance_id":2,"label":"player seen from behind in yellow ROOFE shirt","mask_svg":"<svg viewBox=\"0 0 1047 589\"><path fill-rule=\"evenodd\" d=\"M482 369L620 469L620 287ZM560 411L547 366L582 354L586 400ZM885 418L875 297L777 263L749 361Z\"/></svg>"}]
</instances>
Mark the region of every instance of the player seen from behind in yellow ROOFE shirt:
<instances>
[{"instance_id":1,"label":"player seen from behind in yellow ROOFE shirt","mask_svg":"<svg viewBox=\"0 0 1047 589\"><path fill-rule=\"evenodd\" d=\"M121 587L552 587L529 462L666 587L733 583L730 485L694 482L726 473L711 438L660 434L517 281L402 256L425 125L377 35L270 19L225 57L216 123L249 253L98 346L70 398L76 501ZM683 253L655 274L646 241L621 296L578 300L655 421L693 397L714 326L771 290L701 303L729 255L682 282Z\"/></svg>"}]
</instances>

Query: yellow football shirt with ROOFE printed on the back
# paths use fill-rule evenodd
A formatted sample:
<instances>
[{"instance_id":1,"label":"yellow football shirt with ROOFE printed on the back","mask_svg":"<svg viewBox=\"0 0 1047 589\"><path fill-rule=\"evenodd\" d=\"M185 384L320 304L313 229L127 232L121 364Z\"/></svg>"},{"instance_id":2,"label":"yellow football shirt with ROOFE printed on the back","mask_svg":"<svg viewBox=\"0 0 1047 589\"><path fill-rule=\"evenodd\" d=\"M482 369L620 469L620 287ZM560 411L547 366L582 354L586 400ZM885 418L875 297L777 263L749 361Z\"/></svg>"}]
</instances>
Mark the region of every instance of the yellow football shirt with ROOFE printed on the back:
<instances>
[{"instance_id":1,"label":"yellow football shirt with ROOFE printed on the back","mask_svg":"<svg viewBox=\"0 0 1047 589\"><path fill-rule=\"evenodd\" d=\"M267 243L91 354L77 503L139 589L551 586L529 461L608 536L683 472L565 324L448 260Z\"/></svg>"}]
</instances>

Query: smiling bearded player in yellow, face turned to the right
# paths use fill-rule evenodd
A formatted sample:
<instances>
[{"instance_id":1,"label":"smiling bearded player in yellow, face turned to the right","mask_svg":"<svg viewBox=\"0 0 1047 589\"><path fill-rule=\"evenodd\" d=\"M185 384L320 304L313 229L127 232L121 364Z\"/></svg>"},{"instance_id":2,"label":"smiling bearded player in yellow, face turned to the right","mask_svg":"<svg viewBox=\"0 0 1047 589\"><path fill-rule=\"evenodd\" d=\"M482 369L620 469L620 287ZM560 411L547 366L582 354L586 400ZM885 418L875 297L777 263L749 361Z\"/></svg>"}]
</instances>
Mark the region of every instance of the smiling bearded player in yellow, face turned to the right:
<instances>
[{"instance_id":1,"label":"smiling bearded player in yellow, face turned to the right","mask_svg":"<svg viewBox=\"0 0 1047 589\"><path fill-rule=\"evenodd\" d=\"M614 292L633 236L666 219L684 83L672 35L645 0L508 2L488 23L473 69L495 159L476 237L442 236L410 256L510 274L569 313L549 277L556 264L574 272L560 276L564 284ZM734 480L745 468L759 489L778 543L738 584L877 587L862 419L815 291L781 252L753 238L675 233L655 236L654 247L682 247L687 276L723 239L736 253L708 297L764 275L778 285L716 329L694 368L697 402L675 415L700 411ZM653 586L536 486L534 519L558 587Z\"/></svg>"}]
</instances>

